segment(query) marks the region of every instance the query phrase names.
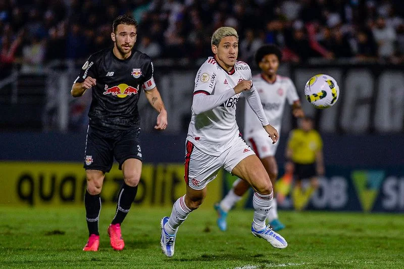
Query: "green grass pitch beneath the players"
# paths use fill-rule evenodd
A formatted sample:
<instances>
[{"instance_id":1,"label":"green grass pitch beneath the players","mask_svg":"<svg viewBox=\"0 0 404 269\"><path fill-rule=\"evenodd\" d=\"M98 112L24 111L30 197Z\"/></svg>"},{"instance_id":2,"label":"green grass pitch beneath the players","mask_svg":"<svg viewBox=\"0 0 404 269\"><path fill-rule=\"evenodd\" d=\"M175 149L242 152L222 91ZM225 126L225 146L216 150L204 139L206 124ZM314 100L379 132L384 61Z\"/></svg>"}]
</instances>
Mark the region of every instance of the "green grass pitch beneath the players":
<instances>
[{"instance_id":1,"label":"green grass pitch beneath the players","mask_svg":"<svg viewBox=\"0 0 404 269\"><path fill-rule=\"evenodd\" d=\"M216 213L199 209L180 227L174 257L160 249L160 219L171 208L132 206L122 234L125 249L109 245L114 207L100 214L100 249L83 252L84 206L0 207L1 268L404 268L404 216L281 211L288 247L273 248L250 233L252 211L229 214L228 231Z\"/></svg>"}]
</instances>

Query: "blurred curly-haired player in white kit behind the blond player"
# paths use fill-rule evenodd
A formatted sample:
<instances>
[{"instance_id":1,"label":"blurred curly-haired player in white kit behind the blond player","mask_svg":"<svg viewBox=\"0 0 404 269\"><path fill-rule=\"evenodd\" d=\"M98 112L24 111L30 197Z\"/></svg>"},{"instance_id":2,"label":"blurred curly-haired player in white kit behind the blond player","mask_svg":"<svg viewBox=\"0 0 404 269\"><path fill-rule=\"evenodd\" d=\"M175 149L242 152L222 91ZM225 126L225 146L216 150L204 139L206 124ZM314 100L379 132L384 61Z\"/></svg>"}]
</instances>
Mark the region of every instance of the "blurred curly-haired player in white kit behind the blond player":
<instances>
[{"instance_id":1,"label":"blurred curly-haired player in white kit behind the blond player","mask_svg":"<svg viewBox=\"0 0 404 269\"><path fill-rule=\"evenodd\" d=\"M260 99L268 121L280 131L282 115L286 99L292 105L292 114L296 118L304 117L301 109L299 96L290 78L277 75L282 53L275 45L264 45L257 50L256 63L261 69L261 74L252 78L254 86L258 89ZM265 169L275 186L278 177L278 166L275 160L278 143L273 144L261 128L260 122L251 111L248 105L245 106L244 115L244 139L247 144L256 152L261 159ZM234 182L232 189L227 193L220 203L215 205L219 217L217 224L219 229L227 229L227 213L234 204L241 199L241 196L249 189L248 182L238 179ZM275 193L275 189L274 189ZM278 220L276 198L272 201L272 207L268 214L268 223L274 231L283 229L285 226Z\"/></svg>"}]
</instances>

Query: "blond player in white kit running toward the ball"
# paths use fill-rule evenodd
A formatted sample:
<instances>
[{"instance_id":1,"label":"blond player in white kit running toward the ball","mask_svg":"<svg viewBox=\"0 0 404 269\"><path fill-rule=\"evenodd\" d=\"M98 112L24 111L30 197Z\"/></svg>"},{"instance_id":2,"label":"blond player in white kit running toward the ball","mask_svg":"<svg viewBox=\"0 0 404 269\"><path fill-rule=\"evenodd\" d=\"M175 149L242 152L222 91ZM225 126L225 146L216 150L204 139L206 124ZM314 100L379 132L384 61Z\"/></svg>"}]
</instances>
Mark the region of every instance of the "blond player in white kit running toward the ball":
<instances>
[{"instance_id":1,"label":"blond player in white kit running toward the ball","mask_svg":"<svg viewBox=\"0 0 404 269\"><path fill-rule=\"evenodd\" d=\"M287 246L286 240L265 224L273 198L272 183L260 159L239 136L235 112L240 95L244 95L273 143L278 140L278 132L267 121L249 66L237 61L236 30L217 29L212 36L212 51L214 57L208 58L195 78L185 143L186 194L174 203L170 217L161 220L161 247L168 257L174 255L178 227L202 203L207 184L222 167L255 190L251 233L273 247Z\"/></svg>"}]
</instances>

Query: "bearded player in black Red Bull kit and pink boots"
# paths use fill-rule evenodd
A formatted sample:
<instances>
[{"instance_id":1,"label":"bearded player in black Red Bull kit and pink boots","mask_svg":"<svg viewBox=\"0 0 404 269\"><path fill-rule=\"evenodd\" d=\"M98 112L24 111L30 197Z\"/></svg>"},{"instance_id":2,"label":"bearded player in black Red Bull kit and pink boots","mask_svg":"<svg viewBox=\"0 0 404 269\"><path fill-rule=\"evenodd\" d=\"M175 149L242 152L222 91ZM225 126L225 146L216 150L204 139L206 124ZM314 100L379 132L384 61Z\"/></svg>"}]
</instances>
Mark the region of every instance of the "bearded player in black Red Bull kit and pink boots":
<instances>
[{"instance_id":1,"label":"bearded player in black Red Bull kit and pink boots","mask_svg":"<svg viewBox=\"0 0 404 269\"><path fill-rule=\"evenodd\" d=\"M137 22L132 17L117 17L111 33L114 47L91 55L71 90L74 97L79 97L92 88L84 159L87 177L84 204L89 232L84 251L98 250L99 194L114 157L123 172L124 183L119 191L115 217L108 227L108 234L113 249L124 248L120 225L135 199L142 168L137 109L142 90L159 112L155 129L167 128L167 112L153 78L153 63L147 55L132 50L136 31Z\"/></svg>"}]
</instances>

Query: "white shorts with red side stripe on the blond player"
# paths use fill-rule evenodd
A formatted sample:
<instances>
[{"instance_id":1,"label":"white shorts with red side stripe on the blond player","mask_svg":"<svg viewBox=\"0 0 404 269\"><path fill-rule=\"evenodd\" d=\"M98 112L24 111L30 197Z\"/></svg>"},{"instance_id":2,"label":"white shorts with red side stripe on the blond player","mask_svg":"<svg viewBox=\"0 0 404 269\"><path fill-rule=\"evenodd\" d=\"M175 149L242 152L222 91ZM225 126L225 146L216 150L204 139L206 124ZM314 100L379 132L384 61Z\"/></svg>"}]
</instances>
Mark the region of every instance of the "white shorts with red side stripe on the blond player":
<instances>
[{"instance_id":1,"label":"white shorts with red side stripe on the blond player","mask_svg":"<svg viewBox=\"0 0 404 269\"><path fill-rule=\"evenodd\" d=\"M255 154L241 137L234 139L232 146L219 156L209 155L186 140L185 142L185 182L194 190L202 190L214 180L224 167L231 173L242 159Z\"/></svg>"}]
</instances>

